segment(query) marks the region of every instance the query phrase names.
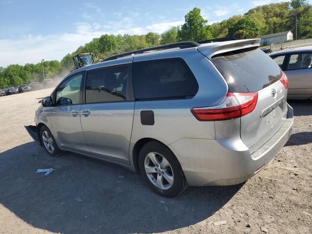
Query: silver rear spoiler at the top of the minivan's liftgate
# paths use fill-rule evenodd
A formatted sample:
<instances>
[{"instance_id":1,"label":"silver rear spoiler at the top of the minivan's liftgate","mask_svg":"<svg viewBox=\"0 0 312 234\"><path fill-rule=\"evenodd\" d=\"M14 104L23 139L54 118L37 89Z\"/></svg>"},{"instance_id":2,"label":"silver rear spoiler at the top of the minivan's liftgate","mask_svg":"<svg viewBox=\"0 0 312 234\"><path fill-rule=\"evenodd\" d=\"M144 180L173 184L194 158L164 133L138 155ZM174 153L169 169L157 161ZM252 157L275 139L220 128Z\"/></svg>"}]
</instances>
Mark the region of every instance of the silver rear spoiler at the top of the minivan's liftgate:
<instances>
[{"instance_id":1,"label":"silver rear spoiler at the top of the minivan's liftgate","mask_svg":"<svg viewBox=\"0 0 312 234\"><path fill-rule=\"evenodd\" d=\"M223 54L229 51L259 47L260 40L261 39L245 39L202 44L197 47L197 50L208 59L211 59L215 55Z\"/></svg>"}]
</instances>

